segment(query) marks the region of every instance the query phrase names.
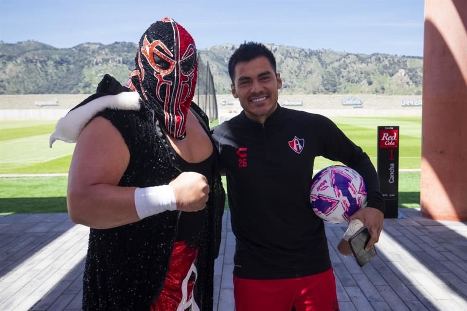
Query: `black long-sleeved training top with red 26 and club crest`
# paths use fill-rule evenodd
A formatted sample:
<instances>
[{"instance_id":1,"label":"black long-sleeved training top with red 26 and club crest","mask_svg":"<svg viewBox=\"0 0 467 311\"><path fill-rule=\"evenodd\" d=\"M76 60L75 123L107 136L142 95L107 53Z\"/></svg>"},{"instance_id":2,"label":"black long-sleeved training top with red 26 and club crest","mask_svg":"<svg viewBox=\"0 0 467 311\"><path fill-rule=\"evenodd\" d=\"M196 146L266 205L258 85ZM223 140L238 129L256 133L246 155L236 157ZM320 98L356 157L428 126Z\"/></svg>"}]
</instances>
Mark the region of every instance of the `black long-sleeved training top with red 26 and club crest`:
<instances>
[{"instance_id":1,"label":"black long-sleeved training top with red 26 and club crest","mask_svg":"<svg viewBox=\"0 0 467 311\"><path fill-rule=\"evenodd\" d=\"M331 267L324 223L309 199L317 156L359 172L368 206L384 211L368 155L324 116L278 106L263 125L242 111L213 135L227 176L235 276L290 278Z\"/></svg>"}]
</instances>

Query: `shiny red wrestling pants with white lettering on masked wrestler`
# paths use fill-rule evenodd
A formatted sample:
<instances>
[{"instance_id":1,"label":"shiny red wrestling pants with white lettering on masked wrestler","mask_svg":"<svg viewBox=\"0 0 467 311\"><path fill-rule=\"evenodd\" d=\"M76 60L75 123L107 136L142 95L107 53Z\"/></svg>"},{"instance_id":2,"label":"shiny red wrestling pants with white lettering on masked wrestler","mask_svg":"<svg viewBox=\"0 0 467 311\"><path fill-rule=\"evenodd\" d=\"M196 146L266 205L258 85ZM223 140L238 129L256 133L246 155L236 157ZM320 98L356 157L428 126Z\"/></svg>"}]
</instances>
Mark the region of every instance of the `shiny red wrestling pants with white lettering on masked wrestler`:
<instances>
[{"instance_id":1,"label":"shiny red wrestling pants with white lettering on masked wrestler","mask_svg":"<svg viewBox=\"0 0 467 311\"><path fill-rule=\"evenodd\" d=\"M175 242L162 292L151 303L150 311L199 311L193 298L198 275L194 264L197 255L198 249L186 246L185 241Z\"/></svg>"}]
</instances>

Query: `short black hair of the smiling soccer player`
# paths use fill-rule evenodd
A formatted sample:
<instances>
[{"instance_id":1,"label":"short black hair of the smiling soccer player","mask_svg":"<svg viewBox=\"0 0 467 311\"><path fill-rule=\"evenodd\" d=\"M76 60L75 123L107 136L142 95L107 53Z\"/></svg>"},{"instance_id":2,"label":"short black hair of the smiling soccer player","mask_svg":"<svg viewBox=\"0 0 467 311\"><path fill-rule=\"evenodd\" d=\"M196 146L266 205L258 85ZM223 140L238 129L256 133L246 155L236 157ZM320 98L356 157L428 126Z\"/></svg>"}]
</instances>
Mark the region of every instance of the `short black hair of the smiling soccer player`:
<instances>
[{"instance_id":1,"label":"short black hair of the smiling soccer player","mask_svg":"<svg viewBox=\"0 0 467 311\"><path fill-rule=\"evenodd\" d=\"M272 69L274 69L274 73L277 73L276 59L274 57L274 54L272 54L272 52L264 44L250 41L247 43L240 44L238 49L235 50L234 54L230 56L229 75L230 79L232 80L232 83L234 83L235 78L235 65L239 62L251 61L252 59L255 59L259 56L265 56L266 58L268 58Z\"/></svg>"}]
</instances>

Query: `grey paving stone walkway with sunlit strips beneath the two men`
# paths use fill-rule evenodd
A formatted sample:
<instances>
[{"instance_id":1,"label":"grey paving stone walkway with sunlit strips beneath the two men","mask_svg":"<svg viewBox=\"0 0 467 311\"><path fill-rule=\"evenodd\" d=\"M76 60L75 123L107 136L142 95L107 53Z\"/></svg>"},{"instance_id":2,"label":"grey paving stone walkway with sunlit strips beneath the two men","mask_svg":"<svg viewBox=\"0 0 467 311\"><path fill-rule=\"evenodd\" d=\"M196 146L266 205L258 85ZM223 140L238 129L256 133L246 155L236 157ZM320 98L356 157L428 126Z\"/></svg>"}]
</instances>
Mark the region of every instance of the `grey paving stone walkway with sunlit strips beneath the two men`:
<instances>
[{"instance_id":1,"label":"grey paving stone walkway with sunlit strips beneath the two men","mask_svg":"<svg viewBox=\"0 0 467 311\"><path fill-rule=\"evenodd\" d=\"M363 268L337 252L346 225L326 225L341 311L467 311L467 223L399 213L384 220L378 255ZM229 217L216 260L217 311L234 311ZM88 232L67 214L0 215L0 310L81 310Z\"/></svg>"}]
</instances>

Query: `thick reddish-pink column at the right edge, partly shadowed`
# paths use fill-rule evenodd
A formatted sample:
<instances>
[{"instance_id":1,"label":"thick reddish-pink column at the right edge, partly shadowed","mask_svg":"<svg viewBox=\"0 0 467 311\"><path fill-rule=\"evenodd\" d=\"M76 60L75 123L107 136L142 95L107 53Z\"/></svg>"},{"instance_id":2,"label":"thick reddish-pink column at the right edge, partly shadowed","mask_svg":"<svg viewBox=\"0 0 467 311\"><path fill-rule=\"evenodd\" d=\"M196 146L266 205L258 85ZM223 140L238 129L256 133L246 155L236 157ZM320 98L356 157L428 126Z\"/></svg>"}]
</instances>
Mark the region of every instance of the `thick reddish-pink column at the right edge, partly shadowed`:
<instances>
[{"instance_id":1,"label":"thick reddish-pink column at the right edge, partly shadowed","mask_svg":"<svg viewBox=\"0 0 467 311\"><path fill-rule=\"evenodd\" d=\"M467 221L467 0L425 0L421 214Z\"/></svg>"}]
</instances>

